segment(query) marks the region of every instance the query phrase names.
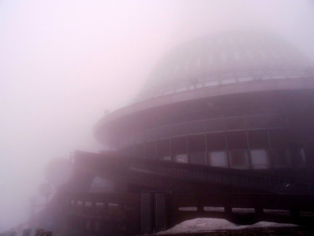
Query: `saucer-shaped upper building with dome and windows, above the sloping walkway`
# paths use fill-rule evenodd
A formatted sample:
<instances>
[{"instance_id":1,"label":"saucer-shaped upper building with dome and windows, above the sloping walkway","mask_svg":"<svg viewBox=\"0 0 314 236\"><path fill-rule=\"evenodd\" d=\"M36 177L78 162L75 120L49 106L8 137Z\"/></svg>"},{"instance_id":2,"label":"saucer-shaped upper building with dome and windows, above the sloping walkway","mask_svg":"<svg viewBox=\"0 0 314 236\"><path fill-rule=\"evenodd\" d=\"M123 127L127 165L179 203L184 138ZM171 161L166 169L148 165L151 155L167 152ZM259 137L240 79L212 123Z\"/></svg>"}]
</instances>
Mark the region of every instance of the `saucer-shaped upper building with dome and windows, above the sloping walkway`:
<instances>
[{"instance_id":1,"label":"saucer-shaped upper building with dome and windows, above the sloping walkway","mask_svg":"<svg viewBox=\"0 0 314 236\"><path fill-rule=\"evenodd\" d=\"M208 35L169 52L95 137L126 159L235 169L313 163L314 70L271 34Z\"/></svg>"}]
</instances>

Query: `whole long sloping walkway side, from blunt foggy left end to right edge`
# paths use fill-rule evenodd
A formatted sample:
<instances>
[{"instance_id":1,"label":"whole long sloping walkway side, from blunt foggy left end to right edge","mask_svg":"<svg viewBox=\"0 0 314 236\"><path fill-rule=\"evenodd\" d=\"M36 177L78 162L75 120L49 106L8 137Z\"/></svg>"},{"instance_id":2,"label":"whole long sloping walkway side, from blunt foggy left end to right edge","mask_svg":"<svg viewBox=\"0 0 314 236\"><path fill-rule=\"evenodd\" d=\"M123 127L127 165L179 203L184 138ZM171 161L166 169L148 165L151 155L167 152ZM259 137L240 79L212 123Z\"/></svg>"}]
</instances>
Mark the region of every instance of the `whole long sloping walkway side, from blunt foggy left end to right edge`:
<instances>
[{"instance_id":1,"label":"whole long sloping walkway side, from blunt foggy left end to right edge","mask_svg":"<svg viewBox=\"0 0 314 236\"><path fill-rule=\"evenodd\" d=\"M79 166L112 175L128 173L146 173L182 178L252 189L259 192L313 194L314 181L291 175L280 175L274 172L238 170L214 166L201 166L162 160L133 158L126 160L117 157L105 157L99 154L75 157Z\"/></svg>"}]
</instances>

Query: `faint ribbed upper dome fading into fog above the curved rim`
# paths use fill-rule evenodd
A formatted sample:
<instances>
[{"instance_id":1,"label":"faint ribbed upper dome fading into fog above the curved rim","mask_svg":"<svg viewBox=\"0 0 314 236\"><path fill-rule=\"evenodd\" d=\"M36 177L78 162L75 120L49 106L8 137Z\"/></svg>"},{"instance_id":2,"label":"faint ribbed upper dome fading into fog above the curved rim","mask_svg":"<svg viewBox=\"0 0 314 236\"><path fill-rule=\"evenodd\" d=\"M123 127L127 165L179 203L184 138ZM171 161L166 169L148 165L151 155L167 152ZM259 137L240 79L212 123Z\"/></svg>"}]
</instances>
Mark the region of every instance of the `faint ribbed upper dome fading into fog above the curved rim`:
<instances>
[{"instance_id":1,"label":"faint ribbed upper dome fading into fog above the curved rim","mask_svg":"<svg viewBox=\"0 0 314 236\"><path fill-rule=\"evenodd\" d=\"M210 34L171 50L136 102L201 87L310 77L313 63L289 42L264 32Z\"/></svg>"}]
</instances>

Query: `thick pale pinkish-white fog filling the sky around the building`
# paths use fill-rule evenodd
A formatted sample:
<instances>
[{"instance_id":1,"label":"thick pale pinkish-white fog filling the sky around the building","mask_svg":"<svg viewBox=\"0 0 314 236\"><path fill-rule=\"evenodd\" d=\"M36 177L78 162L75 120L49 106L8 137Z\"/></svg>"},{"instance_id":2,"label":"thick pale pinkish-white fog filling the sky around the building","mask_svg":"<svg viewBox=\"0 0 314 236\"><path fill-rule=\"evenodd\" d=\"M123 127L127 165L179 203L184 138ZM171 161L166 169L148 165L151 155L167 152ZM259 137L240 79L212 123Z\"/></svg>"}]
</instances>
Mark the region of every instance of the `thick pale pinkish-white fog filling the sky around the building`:
<instances>
[{"instance_id":1,"label":"thick pale pinkish-white fog filling the sky around the building","mask_svg":"<svg viewBox=\"0 0 314 236\"><path fill-rule=\"evenodd\" d=\"M44 168L98 152L92 127L127 105L170 48L267 30L314 59L314 1L0 1L0 231L26 222Z\"/></svg>"}]
</instances>

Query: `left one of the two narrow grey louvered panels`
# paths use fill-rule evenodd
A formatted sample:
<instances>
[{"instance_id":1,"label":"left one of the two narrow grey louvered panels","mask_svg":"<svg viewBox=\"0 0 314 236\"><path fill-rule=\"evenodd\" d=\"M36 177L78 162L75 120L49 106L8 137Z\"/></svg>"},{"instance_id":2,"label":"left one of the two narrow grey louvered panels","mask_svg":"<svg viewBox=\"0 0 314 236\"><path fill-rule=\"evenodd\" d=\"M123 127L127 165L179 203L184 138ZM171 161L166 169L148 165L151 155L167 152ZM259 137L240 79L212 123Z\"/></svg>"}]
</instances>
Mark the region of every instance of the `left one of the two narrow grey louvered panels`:
<instances>
[{"instance_id":1,"label":"left one of the two narrow grey louvered panels","mask_svg":"<svg viewBox=\"0 0 314 236\"><path fill-rule=\"evenodd\" d=\"M142 233L151 233L151 197L149 193L141 193L141 231Z\"/></svg>"}]
</instances>

